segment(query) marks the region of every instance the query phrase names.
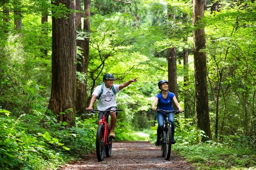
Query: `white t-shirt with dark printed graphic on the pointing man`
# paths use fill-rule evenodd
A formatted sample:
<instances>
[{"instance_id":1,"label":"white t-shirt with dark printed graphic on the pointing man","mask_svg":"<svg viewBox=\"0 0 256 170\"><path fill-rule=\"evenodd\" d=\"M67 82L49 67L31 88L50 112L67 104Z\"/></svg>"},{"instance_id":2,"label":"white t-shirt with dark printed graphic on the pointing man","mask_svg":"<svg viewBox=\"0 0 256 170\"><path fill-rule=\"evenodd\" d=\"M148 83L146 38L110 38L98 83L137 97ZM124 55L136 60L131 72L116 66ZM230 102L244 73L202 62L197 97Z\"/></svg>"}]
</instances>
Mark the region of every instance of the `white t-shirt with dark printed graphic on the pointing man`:
<instances>
[{"instance_id":1,"label":"white t-shirt with dark printed graphic on the pointing man","mask_svg":"<svg viewBox=\"0 0 256 170\"><path fill-rule=\"evenodd\" d=\"M118 93L120 90L119 90L119 85L117 84L114 84L113 85L115 90L116 90L116 93ZM113 106L116 106L117 107L117 104L116 104L116 96L115 96L115 93L113 92L113 90L111 89L112 87L110 88L106 88L105 85L103 85L103 92L97 102L97 108L98 110L106 110L110 107L113 107ZM99 95L101 92L101 85L97 86L95 88L95 90L93 91L92 95L95 94L95 95Z\"/></svg>"}]
</instances>

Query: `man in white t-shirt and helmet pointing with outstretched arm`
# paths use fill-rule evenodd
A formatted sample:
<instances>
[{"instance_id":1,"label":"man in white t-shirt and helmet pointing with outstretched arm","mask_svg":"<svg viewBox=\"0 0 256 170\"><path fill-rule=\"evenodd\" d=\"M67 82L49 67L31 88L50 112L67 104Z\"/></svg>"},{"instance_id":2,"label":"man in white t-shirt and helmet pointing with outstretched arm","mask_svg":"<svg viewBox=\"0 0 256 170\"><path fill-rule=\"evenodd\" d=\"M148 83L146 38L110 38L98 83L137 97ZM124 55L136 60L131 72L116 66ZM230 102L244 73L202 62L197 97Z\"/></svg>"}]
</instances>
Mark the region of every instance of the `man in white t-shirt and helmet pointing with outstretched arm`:
<instances>
[{"instance_id":1,"label":"man in white t-shirt and helmet pointing with outstretched arm","mask_svg":"<svg viewBox=\"0 0 256 170\"><path fill-rule=\"evenodd\" d=\"M90 105L87 108L87 110L93 109L93 104L95 100L98 98L97 102L97 109L98 110L115 110L117 109L116 104L116 96L115 94L118 93L120 90L122 90L124 87L129 86L132 82L137 82L138 78L129 80L127 82L124 82L123 84L117 85L114 84L114 76L112 74L105 74L103 76L103 85L97 86L93 93L92 93L92 99L90 101ZM103 90L102 90L103 89ZM99 122L102 119L102 112L99 113ZM110 131L110 137L115 138L115 126L116 126L116 112L112 112L111 114L111 131Z\"/></svg>"}]
</instances>

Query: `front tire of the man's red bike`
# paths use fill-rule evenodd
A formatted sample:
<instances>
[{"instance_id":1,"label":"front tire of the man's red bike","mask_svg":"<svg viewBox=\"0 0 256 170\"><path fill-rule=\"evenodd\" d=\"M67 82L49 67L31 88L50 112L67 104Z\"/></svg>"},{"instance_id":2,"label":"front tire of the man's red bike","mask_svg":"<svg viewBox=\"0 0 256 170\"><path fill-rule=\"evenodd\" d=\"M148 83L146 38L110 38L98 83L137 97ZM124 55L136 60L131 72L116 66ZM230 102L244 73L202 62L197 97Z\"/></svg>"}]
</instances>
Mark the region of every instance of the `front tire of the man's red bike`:
<instances>
[{"instance_id":1,"label":"front tire of the man's red bike","mask_svg":"<svg viewBox=\"0 0 256 170\"><path fill-rule=\"evenodd\" d=\"M105 142L103 142L104 128L104 125L100 124L96 134L96 155L98 161L103 161L105 155Z\"/></svg>"}]
</instances>

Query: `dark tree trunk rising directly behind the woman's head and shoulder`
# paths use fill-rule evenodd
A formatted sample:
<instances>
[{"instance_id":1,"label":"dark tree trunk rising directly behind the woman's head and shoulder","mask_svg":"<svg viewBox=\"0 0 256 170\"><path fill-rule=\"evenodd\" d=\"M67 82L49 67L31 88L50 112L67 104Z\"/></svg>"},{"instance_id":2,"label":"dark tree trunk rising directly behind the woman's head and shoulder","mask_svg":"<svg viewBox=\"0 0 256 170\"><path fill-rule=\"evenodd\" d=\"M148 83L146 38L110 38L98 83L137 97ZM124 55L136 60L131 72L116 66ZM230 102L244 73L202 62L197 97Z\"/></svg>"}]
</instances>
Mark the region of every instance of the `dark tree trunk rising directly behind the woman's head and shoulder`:
<instances>
[{"instance_id":1,"label":"dark tree trunk rising directly behind the woman's head and shoulder","mask_svg":"<svg viewBox=\"0 0 256 170\"><path fill-rule=\"evenodd\" d=\"M168 81L169 91L176 95L178 100L178 87L177 87L177 64L176 64L176 47L168 48ZM176 105L173 105L177 109Z\"/></svg>"}]
</instances>

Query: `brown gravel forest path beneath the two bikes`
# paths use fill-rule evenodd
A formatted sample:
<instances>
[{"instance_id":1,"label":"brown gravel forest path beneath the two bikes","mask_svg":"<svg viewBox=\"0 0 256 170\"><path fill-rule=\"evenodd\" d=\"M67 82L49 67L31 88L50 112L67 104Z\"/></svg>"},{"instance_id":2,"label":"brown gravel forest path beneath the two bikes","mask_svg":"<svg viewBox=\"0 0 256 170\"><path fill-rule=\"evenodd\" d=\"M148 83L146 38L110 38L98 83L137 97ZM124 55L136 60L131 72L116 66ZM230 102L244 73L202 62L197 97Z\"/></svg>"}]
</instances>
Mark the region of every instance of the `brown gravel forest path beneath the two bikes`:
<instances>
[{"instance_id":1,"label":"brown gravel forest path beneath the two bikes","mask_svg":"<svg viewBox=\"0 0 256 170\"><path fill-rule=\"evenodd\" d=\"M69 162L60 170L81 169L196 169L181 156L171 153L170 159L161 156L161 147L148 141L114 141L111 157L99 162L96 153L85 155L79 161Z\"/></svg>"}]
</instances>

